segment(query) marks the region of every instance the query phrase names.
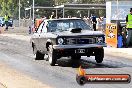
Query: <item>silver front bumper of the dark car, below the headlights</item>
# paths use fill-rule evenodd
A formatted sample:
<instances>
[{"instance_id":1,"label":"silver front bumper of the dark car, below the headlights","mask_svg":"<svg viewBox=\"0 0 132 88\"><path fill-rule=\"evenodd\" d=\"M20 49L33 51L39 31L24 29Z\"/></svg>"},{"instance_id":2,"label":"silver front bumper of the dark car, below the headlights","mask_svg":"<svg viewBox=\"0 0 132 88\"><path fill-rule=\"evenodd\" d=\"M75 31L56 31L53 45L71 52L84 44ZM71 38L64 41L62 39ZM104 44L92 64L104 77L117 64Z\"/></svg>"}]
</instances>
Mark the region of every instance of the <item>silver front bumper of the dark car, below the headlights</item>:
<instances>
[{"instance_id":1,"label":"silver front bumper of the dark car, below the headlights","mask_svg":"<svg viewBox=\"0 0 132 88\"><path fill-rule=\"evenodd\" d=\"M106 43L101 44L76 44L76 45L53 45L54 49L80 49L80 48L95 48L95 47L106 47Z\"/></svg>"}]
</instances>

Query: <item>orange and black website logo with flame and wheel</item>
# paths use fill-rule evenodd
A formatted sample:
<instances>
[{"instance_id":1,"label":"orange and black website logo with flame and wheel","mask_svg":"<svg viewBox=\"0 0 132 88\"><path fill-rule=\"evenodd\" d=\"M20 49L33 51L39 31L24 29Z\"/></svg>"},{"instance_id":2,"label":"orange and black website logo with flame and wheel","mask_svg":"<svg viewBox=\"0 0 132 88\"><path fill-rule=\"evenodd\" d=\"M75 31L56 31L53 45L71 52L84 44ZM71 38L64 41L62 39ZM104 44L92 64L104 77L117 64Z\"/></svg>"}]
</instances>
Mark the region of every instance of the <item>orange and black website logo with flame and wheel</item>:
<instances>
[{"instance_id":1,"label":"orange and black website logo with flame and wheel","mask_svg":"<svg viewBox=\"0 0 132 88\"><path fill-rule=\"evenodd\" d=\"M123 84L130 83L131 76L129 74L86 74L85 70L80 67L76 81L79 85L86 83Z\"/></svg>"}]
</instances>

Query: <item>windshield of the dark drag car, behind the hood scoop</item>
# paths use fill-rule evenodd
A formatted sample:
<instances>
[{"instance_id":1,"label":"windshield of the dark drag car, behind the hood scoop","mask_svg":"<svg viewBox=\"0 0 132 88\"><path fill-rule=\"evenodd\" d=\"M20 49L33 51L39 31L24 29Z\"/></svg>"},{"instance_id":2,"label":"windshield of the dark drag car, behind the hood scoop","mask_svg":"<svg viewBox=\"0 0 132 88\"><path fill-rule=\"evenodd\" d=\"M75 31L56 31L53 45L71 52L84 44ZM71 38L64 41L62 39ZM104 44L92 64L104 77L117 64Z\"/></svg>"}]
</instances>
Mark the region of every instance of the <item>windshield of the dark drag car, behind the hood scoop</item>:
<instances>
[{"instance_id":1,"label":"windshield of the dark drag car, behind the hood scoop","mask_svg":"<svg viewBox=\"0 0 132 88\"><path fill-rule=\"evenodd\" d=\"M81 19L67 19L67 20L50 20L48 22L48 30L68 31L70 28L81 28L82 30L90 30L90 26Z\"/></svg>"}]
</instances>

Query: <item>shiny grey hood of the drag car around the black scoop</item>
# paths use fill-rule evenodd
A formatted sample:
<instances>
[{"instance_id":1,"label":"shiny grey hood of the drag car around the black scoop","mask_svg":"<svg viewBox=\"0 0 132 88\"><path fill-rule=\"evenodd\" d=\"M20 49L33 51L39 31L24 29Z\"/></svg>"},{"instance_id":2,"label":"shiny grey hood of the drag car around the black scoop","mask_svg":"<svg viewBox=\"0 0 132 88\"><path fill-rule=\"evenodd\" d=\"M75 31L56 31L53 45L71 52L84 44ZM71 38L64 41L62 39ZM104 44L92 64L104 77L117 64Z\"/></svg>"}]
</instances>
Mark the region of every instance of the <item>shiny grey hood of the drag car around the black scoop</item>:
<instances>
[{"instance_id":1,"label":"shiny grey hood of the drag car around the black scoop","mask_svg":"<svg viewBox=\"0 0 132 88\"><path fill-rule=\"evenodd\" d=\"M79 33L72 33L70 31L54 32L57 36L100 36L104 35L101 31L82 30Z\"/></svg>"}]
</instances>

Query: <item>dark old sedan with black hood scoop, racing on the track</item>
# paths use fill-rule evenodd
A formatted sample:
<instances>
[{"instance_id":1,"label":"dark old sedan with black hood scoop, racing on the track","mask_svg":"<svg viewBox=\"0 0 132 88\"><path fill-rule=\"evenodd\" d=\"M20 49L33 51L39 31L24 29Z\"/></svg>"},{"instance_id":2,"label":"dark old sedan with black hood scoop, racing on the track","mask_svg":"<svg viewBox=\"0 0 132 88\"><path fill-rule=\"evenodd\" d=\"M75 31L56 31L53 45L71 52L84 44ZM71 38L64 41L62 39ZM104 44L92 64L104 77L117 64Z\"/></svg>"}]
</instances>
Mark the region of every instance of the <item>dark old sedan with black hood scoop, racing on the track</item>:
<instances>
[{"instance_id":1,"label":"dark old sedan with black hood scoop, racing on the track","mask_svg":"<svg viewBox=\"0 0 132 88\"><path fill-rule=\"evenodd\" d=\"M36 60L48 54L51 66L61 57L79 60L81 56L95 56L97 63L104 58L105 37L101 31L93 31L79 18L44 20L31 37Z\"/></svg>"}]
</instances>

